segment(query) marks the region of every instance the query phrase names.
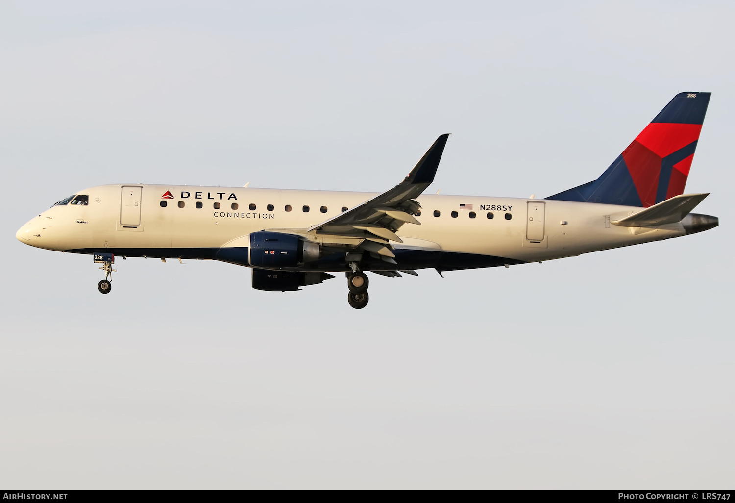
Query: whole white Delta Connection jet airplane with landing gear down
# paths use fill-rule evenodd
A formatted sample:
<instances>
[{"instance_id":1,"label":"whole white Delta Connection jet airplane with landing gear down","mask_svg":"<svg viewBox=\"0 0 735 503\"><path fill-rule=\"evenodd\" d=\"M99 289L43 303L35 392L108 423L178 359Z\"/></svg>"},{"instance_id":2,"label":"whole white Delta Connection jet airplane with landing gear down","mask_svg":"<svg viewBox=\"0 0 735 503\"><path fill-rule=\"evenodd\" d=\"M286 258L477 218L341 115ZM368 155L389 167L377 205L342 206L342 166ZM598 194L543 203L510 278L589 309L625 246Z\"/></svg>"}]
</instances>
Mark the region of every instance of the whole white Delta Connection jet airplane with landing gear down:
<instances>
[{"instance_id":1,"label":"whole white Delta Connection jet airplane with landing gear down","mask_svg":"<svg viewBox=\"0 0 735 503\"><path fill-rule=\"evenodd\" d=\"M252 268L258 290L300 290L344 272L348 302L368 276L575 257L701 232L684 194L710 93L680 93L595 181L547 197L422 195L448 135L387 192L117 184L79 190L21 227L31 246L90 254L110 293L115 256L221 260ZM420 199L418 201L417 199Z\"/></svg>"}]
</instances>

